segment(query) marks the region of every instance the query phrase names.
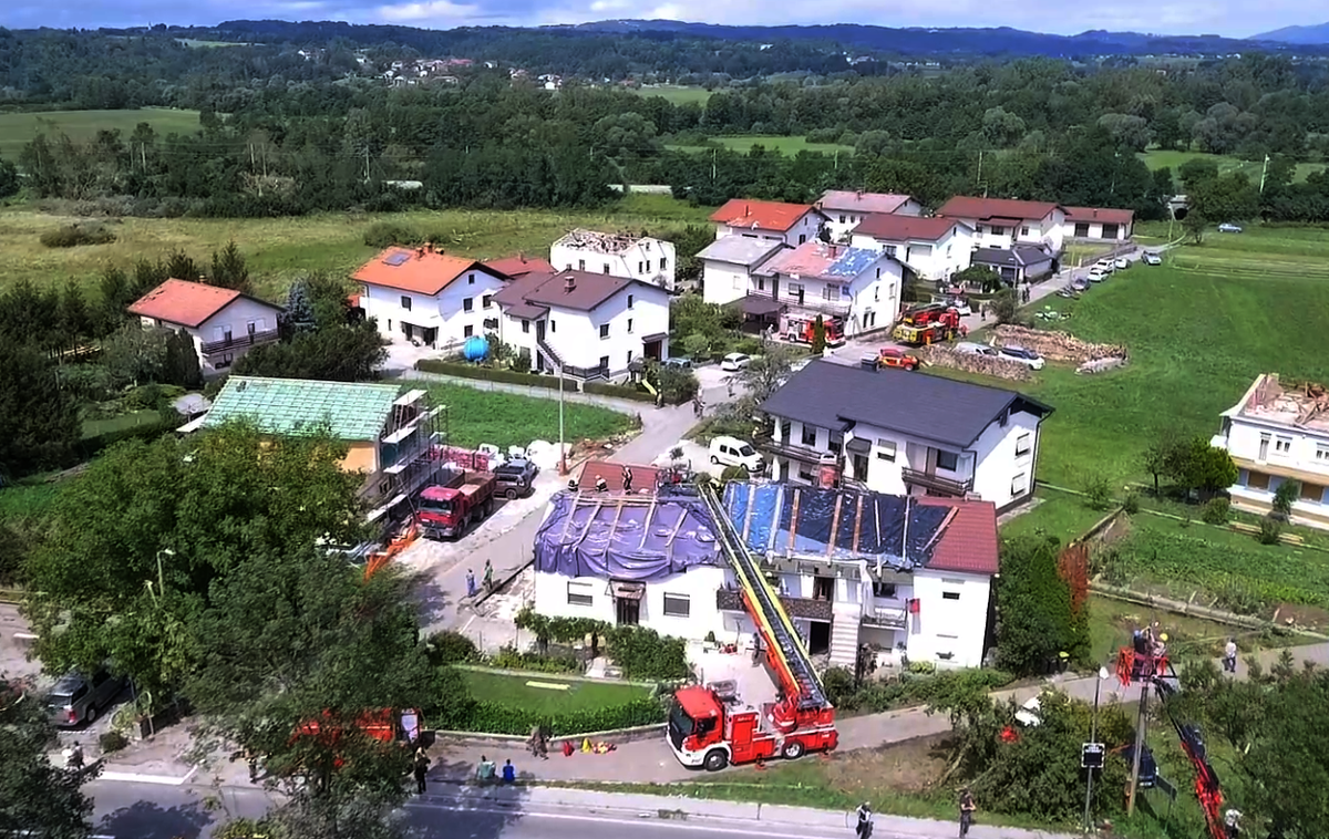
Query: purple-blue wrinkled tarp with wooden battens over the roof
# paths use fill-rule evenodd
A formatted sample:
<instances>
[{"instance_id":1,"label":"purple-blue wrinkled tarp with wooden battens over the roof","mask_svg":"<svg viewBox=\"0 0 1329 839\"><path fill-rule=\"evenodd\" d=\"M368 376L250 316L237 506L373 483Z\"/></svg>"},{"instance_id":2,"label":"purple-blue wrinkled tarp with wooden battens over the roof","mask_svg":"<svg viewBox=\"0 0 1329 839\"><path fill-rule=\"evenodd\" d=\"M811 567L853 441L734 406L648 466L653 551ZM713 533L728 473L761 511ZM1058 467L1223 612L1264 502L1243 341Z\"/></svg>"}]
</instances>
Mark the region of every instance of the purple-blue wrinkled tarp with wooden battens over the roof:
<instances>
[{"instance_id":1,"label":"purple-blue wrinkled tarp with wooden battens over the roof","mask_svg":"<svg viewBox=\"0 0 1329 839\"><path fill-rule=\"evenodd\" d=\"M654 583L696 566L723 563L700 498L662 496L654 507L639 499L623 500L554 495L536 534L536 570Z\"/></svg>"}]
</instances>

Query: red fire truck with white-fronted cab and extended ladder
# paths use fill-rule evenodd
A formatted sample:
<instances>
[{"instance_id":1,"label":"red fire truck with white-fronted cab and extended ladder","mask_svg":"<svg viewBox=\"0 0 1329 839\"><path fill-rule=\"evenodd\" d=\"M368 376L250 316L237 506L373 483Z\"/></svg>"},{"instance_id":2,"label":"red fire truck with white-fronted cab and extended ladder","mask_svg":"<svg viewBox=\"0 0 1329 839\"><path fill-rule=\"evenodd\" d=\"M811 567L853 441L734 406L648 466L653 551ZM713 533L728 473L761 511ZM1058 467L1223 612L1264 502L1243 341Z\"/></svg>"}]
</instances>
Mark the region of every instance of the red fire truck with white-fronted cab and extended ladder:
<instances>
[{"instance_id":1,"label":"red fire truck with white-fronted cab and extended ladder","mask_svg":"<svg viewBox=\"0 0 1329 839\"><path fill-rule=\"evenodd\" d=\"M714 520L716 543L734 568L743 607L758 627L766 664L775 674L775 702L746 705L723 685L690 685L674 694L666 738L679 763L719 771L731 763L780 757L839 745L835 706L827 701L812 660L780 597L734 528L714 483L700 487Z\"/></svg>"}]
</instances>

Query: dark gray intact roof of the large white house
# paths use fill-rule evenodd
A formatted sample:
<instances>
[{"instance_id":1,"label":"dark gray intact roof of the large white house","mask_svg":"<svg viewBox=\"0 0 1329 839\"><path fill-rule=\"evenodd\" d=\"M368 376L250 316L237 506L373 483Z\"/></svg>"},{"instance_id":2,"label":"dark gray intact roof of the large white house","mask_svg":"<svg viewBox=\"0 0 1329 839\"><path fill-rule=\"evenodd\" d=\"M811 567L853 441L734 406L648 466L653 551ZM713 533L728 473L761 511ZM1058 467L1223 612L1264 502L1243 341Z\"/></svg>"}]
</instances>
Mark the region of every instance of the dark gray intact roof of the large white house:
<instances>
[{"instance_id":1,"label":"dark gray intact roof of the large white house","mask_svg":"<svg viewBox=\"0 0 1329 839\"><path fill-rule=\"evenodd\" d=\"M813 361L762 404L762 410L824 429L856 422L968 449L1006 410L1053 413L1014 390L885 368Z\"/></svg>"}]
</instances>

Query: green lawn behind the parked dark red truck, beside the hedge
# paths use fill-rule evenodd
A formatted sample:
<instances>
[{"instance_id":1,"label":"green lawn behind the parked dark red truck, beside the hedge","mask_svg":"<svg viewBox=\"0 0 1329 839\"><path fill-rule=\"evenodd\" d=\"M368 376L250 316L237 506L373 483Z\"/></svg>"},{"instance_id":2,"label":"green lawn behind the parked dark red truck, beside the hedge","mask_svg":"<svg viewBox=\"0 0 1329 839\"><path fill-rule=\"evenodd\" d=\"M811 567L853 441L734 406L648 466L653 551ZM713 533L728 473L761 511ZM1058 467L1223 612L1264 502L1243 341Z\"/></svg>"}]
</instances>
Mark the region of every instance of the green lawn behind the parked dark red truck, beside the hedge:
<instances>
[{"instance_id":1,"label":"green lawn behind the parked dark red truck, beside the hedge","mask_svg":"<svg viewBox=\"0 0 1329 839\"><path fill-rule=\"evenodd\" d=\"M473 449L493 443L506 451L508 446L526 446L533 439L558 441L557 392L550 390L550 398L542 400L466 385L431 384L428 388L436 405L448 406L444 427L453 446ZM606 439L622 434L633 422L633 417L598 405L563 404L569 443Z\"/></svg>"}]
</instances>

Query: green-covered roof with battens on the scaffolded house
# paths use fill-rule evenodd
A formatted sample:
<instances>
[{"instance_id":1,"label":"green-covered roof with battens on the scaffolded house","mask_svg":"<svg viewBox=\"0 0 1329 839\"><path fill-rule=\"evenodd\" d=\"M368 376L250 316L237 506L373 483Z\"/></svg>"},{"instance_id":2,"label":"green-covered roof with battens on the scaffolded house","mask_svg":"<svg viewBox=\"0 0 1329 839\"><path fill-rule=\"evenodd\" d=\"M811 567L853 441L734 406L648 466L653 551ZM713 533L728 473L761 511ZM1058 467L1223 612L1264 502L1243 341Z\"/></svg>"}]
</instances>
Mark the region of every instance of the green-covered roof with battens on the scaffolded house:
<instances>
[{"instance_id":1,"label":"green-covered roof with battens on the scaffolded house","mask_svg":"<svg viewBox=\"0 0 1329 839\"><path fill-rule=\"evenodd\" d=\"M203 427L243 418L270 434L311 434L326 423L338 439L377 439L400 394L397 385L231 376Z\"/></svg>"}]
</instances>

